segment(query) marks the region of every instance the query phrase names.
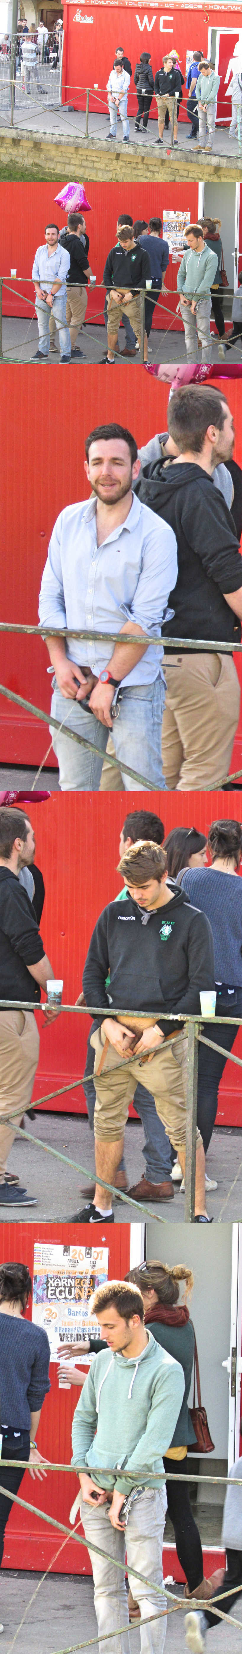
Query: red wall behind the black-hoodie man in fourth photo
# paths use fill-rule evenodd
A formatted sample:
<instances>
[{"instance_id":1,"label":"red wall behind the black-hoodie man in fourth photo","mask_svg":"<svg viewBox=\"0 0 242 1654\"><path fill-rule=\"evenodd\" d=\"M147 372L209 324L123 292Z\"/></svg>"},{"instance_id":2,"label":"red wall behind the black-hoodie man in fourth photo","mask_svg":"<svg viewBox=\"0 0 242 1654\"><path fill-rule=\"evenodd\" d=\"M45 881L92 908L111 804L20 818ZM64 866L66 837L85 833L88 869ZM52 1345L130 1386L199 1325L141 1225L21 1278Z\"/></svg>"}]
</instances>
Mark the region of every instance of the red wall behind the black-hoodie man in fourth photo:
<instances>
[{"instance_id":1,"label":"red wall behind the black-hoodie man in fourth photo","mask_svg":"<svg viewBox=\"0 0 242 1654\"><path fill-rule=\"evenodd\" d=\"M217 817L242 817L240 794L211 792L130 792L125 794L51 794L46 804L30 805L36 834L36 863L41 867L46 900L41 918L41 936L56 976L64 981L64 1004L76 1004L82 986L82 968L94 925L107 901L120 890L117 873L119 840L130 809L151 809L171 827L198 827L207 834ZM79 1080L86 1065L86 1040L89 1017L64 1012L46 1030L38 1012L41 1034L40 1065L35 1082L35 1098L48 1097L59 1085ZM242 1055L239 1030L237 1055ZM51 1110L82 1113L86 1100L82 1087L66 1092L49 1103ZM219 1090L221 1125L240 1125L240 1068L227 1062ZM46 1128L48 1130L48 1128ZM77 1151L81 1158L81 1145Z\"/></svg>"}]
</instances>

